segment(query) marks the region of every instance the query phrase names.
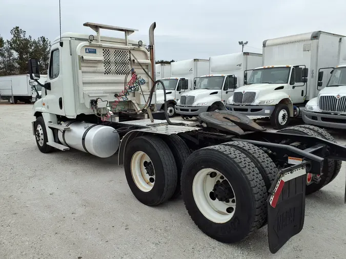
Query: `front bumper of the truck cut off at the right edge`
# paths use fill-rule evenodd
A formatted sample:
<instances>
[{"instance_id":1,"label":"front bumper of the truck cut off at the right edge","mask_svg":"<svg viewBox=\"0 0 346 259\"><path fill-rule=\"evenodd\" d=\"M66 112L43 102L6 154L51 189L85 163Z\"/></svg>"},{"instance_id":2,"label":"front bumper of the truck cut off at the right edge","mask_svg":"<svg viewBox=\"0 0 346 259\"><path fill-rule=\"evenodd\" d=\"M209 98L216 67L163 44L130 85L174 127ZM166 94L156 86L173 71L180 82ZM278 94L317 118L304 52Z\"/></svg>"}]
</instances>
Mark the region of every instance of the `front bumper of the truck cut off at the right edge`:
<instances>
[{"instance_id":1,"label":"front bumper of the truck cut off at the right edge","mask_svg":"<svg viewBox=\"0 0 346 259\"><path fill-rule=\"evenodd\" d=\"M346 129L346 115L316 113L303 110L303 121L321 127Z\"/></svg>"}]
</instances>

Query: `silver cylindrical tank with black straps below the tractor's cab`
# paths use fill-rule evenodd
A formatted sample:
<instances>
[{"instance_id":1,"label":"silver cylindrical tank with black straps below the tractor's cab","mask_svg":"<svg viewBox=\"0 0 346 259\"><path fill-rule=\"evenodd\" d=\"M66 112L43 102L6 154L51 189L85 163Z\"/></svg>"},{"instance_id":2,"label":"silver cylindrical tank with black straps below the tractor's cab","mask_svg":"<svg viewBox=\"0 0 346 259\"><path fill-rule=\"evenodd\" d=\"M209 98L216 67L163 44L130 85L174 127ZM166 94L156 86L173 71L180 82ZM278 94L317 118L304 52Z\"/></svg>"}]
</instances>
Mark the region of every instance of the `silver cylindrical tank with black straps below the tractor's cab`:
<instances>
[{"instance_id":1,"label":"silver cylindrical tank with black straps below the tractor's cab","mask_svg":"<svg viewBox=\"0 0 346 259\"><path fill-rule=\"evenodd\" d=\"M110 157L118 150L119 134L110 126L80 121L66 121L62 125L69 127L58 132L63 145L101 158Z\"/></svg>"}]
</instances>

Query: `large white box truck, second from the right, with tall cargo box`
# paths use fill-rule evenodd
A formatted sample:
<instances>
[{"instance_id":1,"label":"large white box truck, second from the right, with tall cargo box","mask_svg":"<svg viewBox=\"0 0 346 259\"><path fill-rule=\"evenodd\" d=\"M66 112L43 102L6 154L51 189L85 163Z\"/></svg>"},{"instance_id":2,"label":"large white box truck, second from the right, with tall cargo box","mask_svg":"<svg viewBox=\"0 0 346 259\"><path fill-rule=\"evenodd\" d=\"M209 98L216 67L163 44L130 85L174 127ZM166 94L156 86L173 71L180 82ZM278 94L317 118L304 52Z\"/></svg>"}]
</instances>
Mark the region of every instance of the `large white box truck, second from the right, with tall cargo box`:
<instances>
[{"instance_id":1,"label":"large white box truck, second from the right, with tall cargo box","mask_svg":"<svg viewBox=\"0 0 346 259\"><path fill-rule=\"evenodd\" d=\"M234 91L227 109L286 127L317 96L318 70L336 66L340 37L315 31L264 40L262 67L245 74L246 85Z\"/></svg>"}]
</instances>

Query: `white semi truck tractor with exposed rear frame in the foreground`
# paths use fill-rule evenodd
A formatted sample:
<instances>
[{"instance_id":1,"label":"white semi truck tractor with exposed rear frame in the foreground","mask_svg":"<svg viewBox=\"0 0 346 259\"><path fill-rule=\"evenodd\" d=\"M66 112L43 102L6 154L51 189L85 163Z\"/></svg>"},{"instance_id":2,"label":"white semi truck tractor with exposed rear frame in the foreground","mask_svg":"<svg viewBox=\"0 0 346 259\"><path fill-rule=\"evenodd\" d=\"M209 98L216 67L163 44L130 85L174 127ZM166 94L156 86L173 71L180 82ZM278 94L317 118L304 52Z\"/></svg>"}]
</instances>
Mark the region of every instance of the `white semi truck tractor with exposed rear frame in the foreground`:
<instances>
[{"instance_id":1,"label":"white semi truck tractor with exposed rear frame in the foreground","mask_svg":"<svg viewBox=\"0 0 346 259\"><path fill-rule=\"evenodd\" d=\"M338 175L346 147L318 127L266 132L229 111L173 123L167 109L155 112L156 85L168 91L155 80L156 24L148 49L129 39L134 29L84 25L96 35L64 33L52 42L45 95L32 110L40 152L68 156L74 148L100 159L117 152L139 202L155 206L181 193L195 224L220 242L239 242L268 224L275 253L302 230L305 196ZM125 37L101 36L101 29ZM39 82L37 60L28 65Z\"/></svg>"}]
</instances>

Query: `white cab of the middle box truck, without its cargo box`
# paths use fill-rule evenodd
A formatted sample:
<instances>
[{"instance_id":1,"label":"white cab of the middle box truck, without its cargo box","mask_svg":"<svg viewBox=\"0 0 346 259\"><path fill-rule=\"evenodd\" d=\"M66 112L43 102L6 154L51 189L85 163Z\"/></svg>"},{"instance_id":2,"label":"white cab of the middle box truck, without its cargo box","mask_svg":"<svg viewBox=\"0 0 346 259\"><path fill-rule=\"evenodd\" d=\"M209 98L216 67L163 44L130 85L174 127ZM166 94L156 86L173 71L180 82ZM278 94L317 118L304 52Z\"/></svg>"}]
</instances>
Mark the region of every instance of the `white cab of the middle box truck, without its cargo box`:
<instances>
[{"instance_id":1,"label":"white cab of the middle box truck, without its cargo box","mask_svg":"<svg viewBox=\"0 0 346 259\"><path fill-rule=\"evenodd\" d=\"M225 102L238 87L235 75L205 75L195 80L194 90L182 94L175 111L182 118L192 118L202 112L225 110Z\"/></svg>"}]
</instances>

